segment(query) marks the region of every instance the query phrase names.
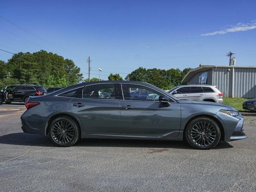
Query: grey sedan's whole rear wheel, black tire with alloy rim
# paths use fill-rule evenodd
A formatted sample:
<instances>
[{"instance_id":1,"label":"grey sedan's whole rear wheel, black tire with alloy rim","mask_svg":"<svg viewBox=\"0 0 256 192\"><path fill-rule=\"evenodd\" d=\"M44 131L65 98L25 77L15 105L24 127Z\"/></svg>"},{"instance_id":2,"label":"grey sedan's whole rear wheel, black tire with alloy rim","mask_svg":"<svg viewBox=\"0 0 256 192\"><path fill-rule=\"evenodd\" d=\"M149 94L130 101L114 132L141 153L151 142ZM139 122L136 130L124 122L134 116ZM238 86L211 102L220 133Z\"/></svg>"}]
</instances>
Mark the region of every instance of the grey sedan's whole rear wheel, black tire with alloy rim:
<instances>
[{"instance_id":1,"label":"grey sedan's whole rear wheel, black tire with alloy rim","mask_svg":"<svg viewBox=\"0 0 256 192\"><path fill-rule=\"evenodd\" d=\"M78 124L72 118L62 116L51 122L49 135L55 145L69 147L79 140L80 131Z\"/></svg>"}]
</instances>

